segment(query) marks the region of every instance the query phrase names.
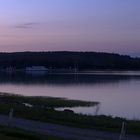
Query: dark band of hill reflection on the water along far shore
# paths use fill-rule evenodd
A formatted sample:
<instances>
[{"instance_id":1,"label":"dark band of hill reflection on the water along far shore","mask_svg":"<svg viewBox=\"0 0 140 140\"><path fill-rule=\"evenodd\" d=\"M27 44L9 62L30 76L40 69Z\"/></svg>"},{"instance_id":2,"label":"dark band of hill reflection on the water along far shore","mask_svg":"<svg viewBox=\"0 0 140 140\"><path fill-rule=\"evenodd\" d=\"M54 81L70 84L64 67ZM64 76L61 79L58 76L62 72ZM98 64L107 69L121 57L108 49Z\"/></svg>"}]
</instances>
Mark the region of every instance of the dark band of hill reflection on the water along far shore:
<instances>
[{"instance_id":1,"label":"dark band of hill reflection on the water along far shore","mask_svg":"<svg viewBox=\"0 0 140 140\"><path fill-rule=\"evenodd\" d=\"M0 73L0 83L12 84L51 84L51 85L78 85L78 84L113 84L129 80L139 80L140 75L119 74L34 74L34 73Z\"/></svg>"}]
</instances>

